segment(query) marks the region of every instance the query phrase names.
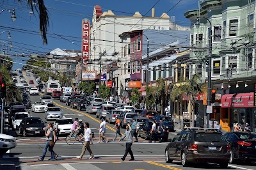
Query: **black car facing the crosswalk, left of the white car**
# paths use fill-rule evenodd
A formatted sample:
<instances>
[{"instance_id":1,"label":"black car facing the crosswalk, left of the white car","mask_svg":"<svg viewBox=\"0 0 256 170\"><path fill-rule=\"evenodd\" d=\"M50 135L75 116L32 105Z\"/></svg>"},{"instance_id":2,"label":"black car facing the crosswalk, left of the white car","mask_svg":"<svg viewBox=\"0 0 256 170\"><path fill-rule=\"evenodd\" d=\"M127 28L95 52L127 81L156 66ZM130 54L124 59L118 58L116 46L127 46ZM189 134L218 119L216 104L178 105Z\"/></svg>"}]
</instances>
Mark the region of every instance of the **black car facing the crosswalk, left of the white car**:
<instances>
[{"instance_id":1,"label":"black car facing the crosswalk, left of the white car","mask_svg":"<svg viewBox=\"0 0 256 170\"><path fill-rule=\"evenodd\" d=\"M46 123L46 122L45 122ZM20 122L19 133L23 136L27 135L44 135L45 124L38 117L23 118Z\"/></svg>"}]
</instances>

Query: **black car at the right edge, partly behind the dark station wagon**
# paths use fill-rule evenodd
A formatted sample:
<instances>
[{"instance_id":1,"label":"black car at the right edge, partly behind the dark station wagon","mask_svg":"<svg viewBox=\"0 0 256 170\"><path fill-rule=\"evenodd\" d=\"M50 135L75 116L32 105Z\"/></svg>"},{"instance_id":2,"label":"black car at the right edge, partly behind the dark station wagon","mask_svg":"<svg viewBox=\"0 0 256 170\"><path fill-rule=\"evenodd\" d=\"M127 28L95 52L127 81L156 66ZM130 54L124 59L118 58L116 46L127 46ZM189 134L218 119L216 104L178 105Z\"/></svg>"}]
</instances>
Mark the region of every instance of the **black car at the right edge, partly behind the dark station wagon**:
<instances>
[{"instance_id":1,"label":"black car at the right edge, partly behind the dark station wagon","mask_svg":"<svg viewBox=\"0 0 256 170\"><path fill-rule=\"evenodd\" d=\"M242 160L248 164L256 161L256 133L251 132L227 132L224 134L230 143L230 164Z\"/></svg>"}]
</instances>

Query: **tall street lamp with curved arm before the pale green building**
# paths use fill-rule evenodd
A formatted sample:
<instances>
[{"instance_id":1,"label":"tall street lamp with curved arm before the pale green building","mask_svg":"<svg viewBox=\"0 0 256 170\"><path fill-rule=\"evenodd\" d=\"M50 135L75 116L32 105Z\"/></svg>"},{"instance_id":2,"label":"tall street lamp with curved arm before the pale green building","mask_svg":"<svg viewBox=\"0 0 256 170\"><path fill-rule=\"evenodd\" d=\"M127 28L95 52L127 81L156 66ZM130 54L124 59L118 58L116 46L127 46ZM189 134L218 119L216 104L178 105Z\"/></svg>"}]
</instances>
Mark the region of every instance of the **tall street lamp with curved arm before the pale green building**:
<instances>
[{"instance_id":1,"label":"tall street lamp with curved arm before the pale green building","mask_svg":"<svg viewBox=\"0 0 256 170\"><path fill-rule=\"evenodd\" d=\"M200 22L199 22L199 18L203 18L208 20L209 24L210 24L210 30L209 30L209 57L208 57L208 88L207 88L207 105L211 105L211 86L212 86L212 23L209 19L205 18L205 17L197 17L196 20L196 28L200 27ZM210 126L210 114L207 114L207 128L209 128Z\"/></svg>"}]
</instances>

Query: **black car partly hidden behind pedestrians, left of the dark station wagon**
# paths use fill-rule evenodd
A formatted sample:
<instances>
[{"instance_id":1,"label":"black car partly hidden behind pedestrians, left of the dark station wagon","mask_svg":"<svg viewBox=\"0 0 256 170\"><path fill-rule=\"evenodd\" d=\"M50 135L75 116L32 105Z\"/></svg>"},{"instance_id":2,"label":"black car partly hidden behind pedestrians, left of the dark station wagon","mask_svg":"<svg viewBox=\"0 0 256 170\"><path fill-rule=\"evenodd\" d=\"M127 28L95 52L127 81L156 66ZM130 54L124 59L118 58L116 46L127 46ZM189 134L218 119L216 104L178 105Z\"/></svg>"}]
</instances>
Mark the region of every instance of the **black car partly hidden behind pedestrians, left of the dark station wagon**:
<instances>
[{"instance_id":1,"label":"black car partly hidden behind pedestrians, left of the dark station wagon","mask_svg":"<svg viewBox=\"0 0 256 170\"><path fill-rule=\"evenodd\" d=\"M144 138L145 140L150 139L150 130L152 128L152 121L147 121L140 126L138 130L138 137ZM156 128L159 126L159 123L156 123ZM164 137L163 141L168 141L169 131L168 129L164 129ZM157 132L157 139L161 138L161 133Z\"/></svg>"}]
</instances>

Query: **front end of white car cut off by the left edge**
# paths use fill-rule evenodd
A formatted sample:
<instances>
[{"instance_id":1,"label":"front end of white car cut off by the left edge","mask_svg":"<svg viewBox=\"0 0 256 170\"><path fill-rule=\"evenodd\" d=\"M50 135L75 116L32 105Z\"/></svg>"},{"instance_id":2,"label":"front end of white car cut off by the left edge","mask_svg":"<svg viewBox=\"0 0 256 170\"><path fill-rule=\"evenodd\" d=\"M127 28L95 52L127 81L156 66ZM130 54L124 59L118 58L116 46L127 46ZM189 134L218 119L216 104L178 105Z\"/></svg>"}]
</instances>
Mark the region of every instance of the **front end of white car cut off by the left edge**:
<instances>
[{"instance_id":1,"label":"front end of white car cut off by the left edge","mask_svg":"<svg viewBox=\"0 0 256 170\"><path fill-rule=\"evenodd\" d=\"M12 135L0 134L0 151L6 152L17 146L16 139Z\"/></svg>"}]
</instances>

